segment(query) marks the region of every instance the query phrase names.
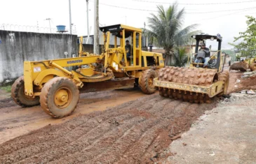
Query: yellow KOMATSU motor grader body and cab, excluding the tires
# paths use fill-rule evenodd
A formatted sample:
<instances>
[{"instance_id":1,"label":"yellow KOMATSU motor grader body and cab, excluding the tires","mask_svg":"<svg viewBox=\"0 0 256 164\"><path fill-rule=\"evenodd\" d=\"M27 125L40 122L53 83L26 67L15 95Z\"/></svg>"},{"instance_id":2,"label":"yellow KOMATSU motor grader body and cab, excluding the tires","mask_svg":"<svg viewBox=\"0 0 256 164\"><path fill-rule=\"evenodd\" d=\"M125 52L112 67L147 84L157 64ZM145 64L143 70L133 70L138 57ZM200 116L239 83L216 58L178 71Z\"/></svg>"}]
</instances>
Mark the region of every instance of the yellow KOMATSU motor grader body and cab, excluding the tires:
<instances>
[{"instance_id":1,"label":"yellow KOMATSU motor grader body and cab, excluding the tires","mask_svg":"<svg viewBox=\"0 0 256 164\"><path fill-rule=\"evenodd\" d=\"M105 28L105 29L104 29ZM132 77L139 78L142 75L142 70L163 68L163 57L160 53L144 52L142 51L142 30L134 27L128 27L122 24L117 24L111 27L102 28L104 39L104 50L102 54L88 54L83 52L82 38L79 45L79 57L66 58L66 59L53 59L45 61L25 61L24 62L24 81L25 81L25 95L26 96L39 96L43 84L48 82L55 76L68 77L72 79L77 87L83 87L83 82L100 82L105 80L111 80L112 75L107 73L107 69L112 70L114 76L120 77ZM114 36L114 48L109 48L109 38L111 30L106 29L119 28L124 33L120 38L120 46L117 45L117 37ZM125 40L126 32L133 33L133 64L130 66L126 57ZM136 37L138 38L138 44L136 46ZM147 57L154 57L157 61L155 66L148 66ZM125 64L121 64L121 59L124 58ZM138 60L138 61L137 61ZM144 65L142 66L142 60ZM104 61L104 73L95 72L94 67L91 64ZM90 68L81 68L79 73L74 70L68 70L71 66L88 65ZM120 75L121 73L121 75ZM100 76L92 77L95 74Z\"/></svg>"}]
</instances>

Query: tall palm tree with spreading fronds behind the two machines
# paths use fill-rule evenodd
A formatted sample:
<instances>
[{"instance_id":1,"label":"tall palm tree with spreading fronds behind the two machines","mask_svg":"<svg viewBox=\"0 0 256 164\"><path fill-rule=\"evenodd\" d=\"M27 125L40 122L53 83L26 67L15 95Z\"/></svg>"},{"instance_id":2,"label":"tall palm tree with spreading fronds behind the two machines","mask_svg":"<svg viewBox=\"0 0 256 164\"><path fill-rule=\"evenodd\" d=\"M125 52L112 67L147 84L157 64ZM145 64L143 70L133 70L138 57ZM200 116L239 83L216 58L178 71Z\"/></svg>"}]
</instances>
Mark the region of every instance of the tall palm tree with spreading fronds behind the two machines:
<instances>
[{"instance_id":1,"label":"tall palm tree with spreading fronds behind the two machines","mask_svg":"<svg viewBox=\"0 0 256 164\"><path fill-rule=\"evenodd\" d=\"M144 34L148 36L149 41L154 45L163 47L165 50L165 65L170 66L173 57L173 48L185 45L191 39L190 36L200 31L193 31L198 24L192 24L182 29L184 20L184 8L177 9L177 4L169 6L164 10L163 6L157 6L158 14L151 14L148 17L149 29L144 29Z\"/></svg>"}]
</instances>

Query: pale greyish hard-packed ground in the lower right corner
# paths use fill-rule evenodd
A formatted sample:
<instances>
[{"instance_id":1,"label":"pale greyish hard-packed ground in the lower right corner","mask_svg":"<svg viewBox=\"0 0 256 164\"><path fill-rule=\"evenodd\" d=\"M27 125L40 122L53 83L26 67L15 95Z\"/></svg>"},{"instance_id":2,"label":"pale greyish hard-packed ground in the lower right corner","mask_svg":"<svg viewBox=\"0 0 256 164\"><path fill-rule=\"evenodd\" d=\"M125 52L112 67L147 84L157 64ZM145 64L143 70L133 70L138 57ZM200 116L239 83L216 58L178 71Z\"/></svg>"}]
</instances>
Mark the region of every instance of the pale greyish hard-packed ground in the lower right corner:
<instances>
[{"instance_id":1,"label":"pale greyish hard-packed ground in the lower right corner","mask_svg":"<svg viewBox=\"0 0 256 164\"><path fill-rule=\"evenodd\" d=\"M161 163L256 163L256 96L231 94L170 144Z\"/></svg>"}]
</instances>

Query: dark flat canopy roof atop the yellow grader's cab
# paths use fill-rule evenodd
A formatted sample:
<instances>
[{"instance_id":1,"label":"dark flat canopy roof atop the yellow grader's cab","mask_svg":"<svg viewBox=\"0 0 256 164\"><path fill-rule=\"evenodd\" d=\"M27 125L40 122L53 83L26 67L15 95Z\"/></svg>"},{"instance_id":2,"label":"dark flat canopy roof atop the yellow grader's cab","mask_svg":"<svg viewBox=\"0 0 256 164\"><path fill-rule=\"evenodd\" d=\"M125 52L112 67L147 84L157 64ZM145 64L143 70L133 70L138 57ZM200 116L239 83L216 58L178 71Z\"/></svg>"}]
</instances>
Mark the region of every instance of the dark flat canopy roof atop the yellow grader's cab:
<instances>
[{"instance_id":1,"label":"dark flat canopy roof atop the yellow grader's cab","mask_svg":"<svg viewBox=\"0 0 256 164\"><path fill-rule=\"evenodd\" d=\"M128 31L137 31L137 32L142 32L142 29L137 29L135 27L128 27L126 25L123 25L123 24L115 24L115 25L112 25L112 26L107 26L107 27L100 27L100 31L102 32L119 32L121 31L122 29L126 29Z\"/></svg>"}]
</instances>

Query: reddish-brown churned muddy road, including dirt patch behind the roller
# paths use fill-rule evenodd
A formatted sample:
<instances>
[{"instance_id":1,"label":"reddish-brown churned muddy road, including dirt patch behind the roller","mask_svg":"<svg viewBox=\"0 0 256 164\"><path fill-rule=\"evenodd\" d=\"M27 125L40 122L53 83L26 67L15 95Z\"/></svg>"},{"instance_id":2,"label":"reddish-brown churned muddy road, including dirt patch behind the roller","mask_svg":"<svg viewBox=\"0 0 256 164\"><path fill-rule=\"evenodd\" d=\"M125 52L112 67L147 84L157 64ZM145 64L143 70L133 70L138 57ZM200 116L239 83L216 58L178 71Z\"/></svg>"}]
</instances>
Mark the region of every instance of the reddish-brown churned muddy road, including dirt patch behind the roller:
<instances>
[{"instance_id":1,"label":"reddish-brown churned muddy road, including dirt patch behind the roller","mask_svg":"<svg viewBox=\"0 0 256 164\"><path fill-rule=\"evenodd\" d=\"M236 83L240 77L231 73L229 92L245 89L242 80ZM105 91L81 94L72 116L52 119L39 106L22 109L1 100L0 163L153 163L171 155L163 151L217 101L191 104L136 89Z\"/></svg>"}]
</instances>

